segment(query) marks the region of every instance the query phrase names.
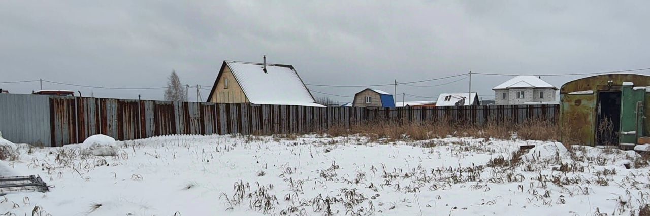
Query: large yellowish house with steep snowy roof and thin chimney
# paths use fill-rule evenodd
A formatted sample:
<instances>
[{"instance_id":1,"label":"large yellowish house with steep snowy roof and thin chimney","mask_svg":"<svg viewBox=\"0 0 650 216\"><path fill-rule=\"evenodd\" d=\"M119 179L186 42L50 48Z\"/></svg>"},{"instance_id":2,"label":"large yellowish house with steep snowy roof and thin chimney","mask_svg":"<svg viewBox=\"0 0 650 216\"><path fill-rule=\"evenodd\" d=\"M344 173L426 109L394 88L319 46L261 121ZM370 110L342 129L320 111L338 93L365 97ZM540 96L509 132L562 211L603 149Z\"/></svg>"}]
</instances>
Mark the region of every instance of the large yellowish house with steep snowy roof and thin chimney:
<instances>
[{"instance_id":1,"label":"large yellowish house with steep snowy roof and thin chimney","mask_svg":"<svg viewBox=\"0 0 650 216\"><path fill-rule=\"evenodd\" d=\"M207 102L318 106L289 65L224 61Z\"/></svg>"}]
</instances>

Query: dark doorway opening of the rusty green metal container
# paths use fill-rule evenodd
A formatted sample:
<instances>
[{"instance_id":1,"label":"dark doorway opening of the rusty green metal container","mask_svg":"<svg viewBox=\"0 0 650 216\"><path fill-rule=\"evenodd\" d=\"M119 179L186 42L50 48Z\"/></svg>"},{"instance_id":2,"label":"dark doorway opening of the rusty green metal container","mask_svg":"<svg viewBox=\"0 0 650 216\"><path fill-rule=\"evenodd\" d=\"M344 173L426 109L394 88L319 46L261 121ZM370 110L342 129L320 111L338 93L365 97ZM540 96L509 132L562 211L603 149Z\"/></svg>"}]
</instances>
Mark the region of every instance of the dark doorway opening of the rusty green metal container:
<instances>
[{"instance_id":1,"label":"dark doorway opening of the rusty green metal container","mask_svg":"<svg viewBox=\"0 0 650 216\"><path fill-rule=\"evenodd\" d=\"M621 126L621 91L598 93L596 145L618 145Z\"/></svg>"}]
</instances>

